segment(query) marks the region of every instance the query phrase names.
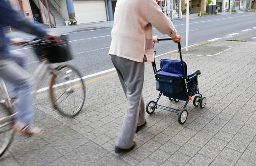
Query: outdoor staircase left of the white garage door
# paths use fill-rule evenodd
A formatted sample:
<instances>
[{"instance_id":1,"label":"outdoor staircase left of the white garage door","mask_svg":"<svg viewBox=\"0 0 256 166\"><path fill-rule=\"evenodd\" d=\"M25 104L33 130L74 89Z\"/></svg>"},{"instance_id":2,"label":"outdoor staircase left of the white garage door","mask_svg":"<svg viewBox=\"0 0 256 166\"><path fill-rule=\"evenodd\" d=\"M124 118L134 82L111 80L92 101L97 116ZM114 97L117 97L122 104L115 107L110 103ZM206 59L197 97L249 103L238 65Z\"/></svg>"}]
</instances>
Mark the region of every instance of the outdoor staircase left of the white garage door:
<instances>
[{"instance_id":1,"label":"outdoor staircase left of the white garage door","mask_svg":"<svg viewBox=\"0 0 256 166\"><path fill-rule=\"evenodd\" d=\"M57 11L57 9L52 5L50 0L47 0L49 11L54 17L52 20L52 24L55 26L65 26L65 19L61 16L61 14Z\"/></svg>"}]
</instances>

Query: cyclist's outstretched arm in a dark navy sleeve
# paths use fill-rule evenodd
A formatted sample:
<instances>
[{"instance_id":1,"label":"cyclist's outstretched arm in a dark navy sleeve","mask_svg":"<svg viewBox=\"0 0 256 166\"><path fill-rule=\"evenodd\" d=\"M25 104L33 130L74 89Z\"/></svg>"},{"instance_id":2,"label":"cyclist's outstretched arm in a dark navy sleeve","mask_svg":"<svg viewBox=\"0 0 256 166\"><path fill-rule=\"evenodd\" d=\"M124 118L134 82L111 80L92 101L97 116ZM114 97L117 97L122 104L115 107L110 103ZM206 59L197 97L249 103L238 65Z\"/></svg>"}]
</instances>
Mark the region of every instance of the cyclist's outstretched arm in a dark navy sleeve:
<instances>
[{"instance_id":1,"label":"cyclist's outstretched arm in a dark navy sleeve","mask_svg":"<svg viewBox=\"0 0 256 166\"><path fill-rule=\"evenodd\" d=\"M0 23L4 26L12 26L20 31L24 31L36 36L46 36L47 31L40 26L22 17L17 11L3 0L0 0Z\"/></svg>"}]
</instances>

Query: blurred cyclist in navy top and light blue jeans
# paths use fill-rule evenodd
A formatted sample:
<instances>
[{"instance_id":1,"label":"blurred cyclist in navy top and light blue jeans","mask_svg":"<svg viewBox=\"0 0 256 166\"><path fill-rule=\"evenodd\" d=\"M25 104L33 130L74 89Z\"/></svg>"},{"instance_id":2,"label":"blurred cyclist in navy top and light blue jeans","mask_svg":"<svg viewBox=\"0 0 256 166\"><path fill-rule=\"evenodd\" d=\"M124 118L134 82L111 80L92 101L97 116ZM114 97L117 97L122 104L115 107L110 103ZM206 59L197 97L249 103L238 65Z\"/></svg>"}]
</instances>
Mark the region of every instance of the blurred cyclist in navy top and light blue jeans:
<instances>
[{"instance_id":1,"label":"blurred cyclist in navy top and light blue jeans","mask_svg":"<svg viewBox=\"0 0 256 166\"><path fill-rule=\"evenodd\" d=\"M15 123L13 132L20 132L28 135L41 135L42 129L32 127L34 118L33 85L28 72L23 69L24 58L20 52L9 51L7 44L20 44L20 39L9 40L4 32L4 26L12 26L20 31L33 34L40 37L54 38L60 41L60 37L54 33L48 33L44 28L37 26L22 17L17 11L13 10L9 3L0 0L0 77L7 80L15 86L15 97L17 98Z\"/></svg>"}]
</instances>

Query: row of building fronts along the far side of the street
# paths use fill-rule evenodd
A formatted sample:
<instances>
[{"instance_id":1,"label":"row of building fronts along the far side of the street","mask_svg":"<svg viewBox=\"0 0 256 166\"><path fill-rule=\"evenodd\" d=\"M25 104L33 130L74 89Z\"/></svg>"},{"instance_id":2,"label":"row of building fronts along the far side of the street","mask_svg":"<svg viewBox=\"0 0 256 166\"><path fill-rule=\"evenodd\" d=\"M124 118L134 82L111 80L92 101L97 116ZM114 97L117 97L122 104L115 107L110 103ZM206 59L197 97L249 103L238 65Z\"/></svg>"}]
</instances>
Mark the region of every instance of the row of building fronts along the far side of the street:
<instances>
[{"instance_id":1,"label":"row of building fronts along the far side of the street","mask_svg":"<svg viewBox=\"0 0 256 166\"><path fill-rule=\"evenodd\" d=\"M77 24L114 19L117 0L7 0L11 6L29 20L41 17L49 27L63 26L65 21L76 17ZM190 0L192 13L205 12L208 0ZM186 0L156 0L166 15L184 11ZM212 0L218 12L239 9L256 9L256 0ZM35 22L37 23L37 22Z\"/></svg>"}]
</instances>

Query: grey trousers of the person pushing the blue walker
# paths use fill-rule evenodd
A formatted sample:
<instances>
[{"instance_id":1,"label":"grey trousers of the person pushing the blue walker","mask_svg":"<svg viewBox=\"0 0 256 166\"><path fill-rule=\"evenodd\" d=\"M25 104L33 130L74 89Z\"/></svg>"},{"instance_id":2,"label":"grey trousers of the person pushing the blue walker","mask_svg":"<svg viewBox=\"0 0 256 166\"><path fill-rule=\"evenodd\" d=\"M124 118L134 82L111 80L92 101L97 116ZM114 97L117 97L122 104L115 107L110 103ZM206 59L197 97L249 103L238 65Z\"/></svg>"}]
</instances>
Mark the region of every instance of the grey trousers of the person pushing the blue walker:
<instances>
[{"instance_id":1,"label":"grey trousers of the person pushing the blue walker","mask_svg":"<svg viewBox=\"0 0 256 166\"><path fill-rule=\"evenodd\" d=\"M128 101L116 146L129 149L134 144L133 139L137 126L145 123L145 106L142 96L145 66L144 62L135 62L115 55L111 55L111 60Z\"/></svg>"}]
</instances>

